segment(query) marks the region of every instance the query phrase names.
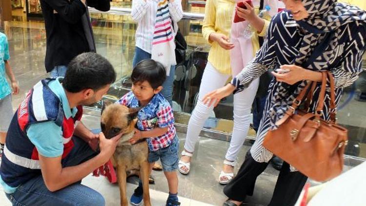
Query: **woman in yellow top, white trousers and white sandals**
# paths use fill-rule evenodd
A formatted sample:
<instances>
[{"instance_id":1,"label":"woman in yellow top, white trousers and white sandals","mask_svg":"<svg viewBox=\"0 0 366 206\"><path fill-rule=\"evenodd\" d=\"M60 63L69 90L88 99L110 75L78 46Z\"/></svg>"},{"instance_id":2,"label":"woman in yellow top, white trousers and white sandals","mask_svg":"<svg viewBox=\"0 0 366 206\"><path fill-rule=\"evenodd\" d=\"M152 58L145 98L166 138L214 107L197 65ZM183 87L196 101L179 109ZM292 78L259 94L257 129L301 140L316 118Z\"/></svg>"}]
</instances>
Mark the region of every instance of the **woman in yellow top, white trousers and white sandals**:
<instances>
[{"instance_id":1,"label":"woman in yellow top, white trousers and white sandals","mask_svg":"<svg viewBox=\"0 0 366 206\"><path fill-rule=\"evenodd\" d=\"M235 0L206 1L202 33L203 38L211 44L211 49L203 72L198 102L188 123L184 150L178 165L182 174L189 173L194 146L205 120L213 110L212 106L203 104L202 98L208 92L224 86L231 76L236 76L259 49L258 35L264 36L269 24L267 20L257 16L259 4L260 0L254 0L254 7L246 4L247 9L242 9L236 8ZM271 10L274 12L269 14L274 14L278 10L277 0L264 0L264 5L272 7ZM247 21L232 23L235 11ZM249 23L257 31L257 35L253 35L251 39L245 39L244 29ZM231 28L232 31L230 31ZM234 95L234 128L223 171L219 177L221 184L227 184L234 176L235 160L249 129L250 110L258 84L259 80L254 81L242 94Z\"/></svg>"}]
</instances>

